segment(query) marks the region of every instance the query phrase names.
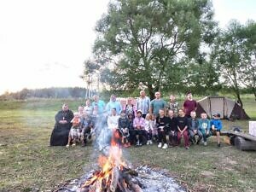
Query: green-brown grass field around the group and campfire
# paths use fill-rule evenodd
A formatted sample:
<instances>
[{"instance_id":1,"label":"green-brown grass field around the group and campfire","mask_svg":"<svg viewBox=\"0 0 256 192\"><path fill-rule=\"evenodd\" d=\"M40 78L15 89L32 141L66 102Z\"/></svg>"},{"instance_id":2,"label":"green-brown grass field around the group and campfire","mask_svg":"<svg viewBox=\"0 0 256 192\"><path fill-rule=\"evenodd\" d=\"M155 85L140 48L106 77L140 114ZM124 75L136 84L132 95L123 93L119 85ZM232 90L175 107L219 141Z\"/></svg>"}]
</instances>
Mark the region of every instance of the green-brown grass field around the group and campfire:
<instances>
[{"instance_id":1,"label":"green-brown grass field around the group and campfire","mask_svg":"<svg viewBox=\"0 0 256 192\"><path fill-rule=\"evenodd\" d=\"M256 119L256 102L244 100L249 116ZM96 164L91 146L48 147L56 111L62 102L76 110L82 101L32 100L0 102L0 191L52 191ZM225 129L247 121L224 121ZM224 137L223 137L224 142ZM128 148L125 156L134 166L167 169L189 191L256 191L256 153L242 152L214 137L207 147L161 150L154 146Z\"/></svg>"}]
</instances>

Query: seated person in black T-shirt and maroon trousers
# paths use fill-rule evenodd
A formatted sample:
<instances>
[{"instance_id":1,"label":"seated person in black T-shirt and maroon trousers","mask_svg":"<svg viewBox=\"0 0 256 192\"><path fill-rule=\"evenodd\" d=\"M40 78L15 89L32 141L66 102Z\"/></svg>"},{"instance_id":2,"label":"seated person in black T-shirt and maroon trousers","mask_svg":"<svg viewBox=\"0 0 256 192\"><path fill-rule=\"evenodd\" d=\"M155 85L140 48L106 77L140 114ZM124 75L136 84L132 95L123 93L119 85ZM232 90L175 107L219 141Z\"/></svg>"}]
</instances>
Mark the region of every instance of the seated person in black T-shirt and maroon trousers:
<instances>
[{"instance_id":1,"label":"seated person in black T-shirt and maroon trousers","mask_svg":"<svg viewBox=\"0 0 256 192\"><path fill-rule=\"evenodd\" d=\"M188 118L182 108L178 110L177 130L177 143L180 144L182 137L184 137L185 148L189 149Z\"/></svg>"}]
</instances>

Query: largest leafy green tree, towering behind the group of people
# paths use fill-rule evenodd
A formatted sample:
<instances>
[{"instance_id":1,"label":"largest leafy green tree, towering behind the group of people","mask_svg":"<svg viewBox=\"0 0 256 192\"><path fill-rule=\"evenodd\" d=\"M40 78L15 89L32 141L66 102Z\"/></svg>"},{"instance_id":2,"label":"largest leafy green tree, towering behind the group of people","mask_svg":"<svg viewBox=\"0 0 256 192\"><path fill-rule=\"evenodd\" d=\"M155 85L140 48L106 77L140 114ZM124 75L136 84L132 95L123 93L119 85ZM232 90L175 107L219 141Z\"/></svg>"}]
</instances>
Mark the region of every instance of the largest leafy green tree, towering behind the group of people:
<instances>
[{"instance_id":1,"label":"largest leafy green tree, towering behind the group of people","mask_svg":"<svg viewBox=\"0 0 256 192\"><path fill-rule=\"evenodd\" d=\"M114 89L154 91L186 84L185 63L214 38L208 0L116 0L96 24L94 54Z\"/></svg>"}]
</instances>

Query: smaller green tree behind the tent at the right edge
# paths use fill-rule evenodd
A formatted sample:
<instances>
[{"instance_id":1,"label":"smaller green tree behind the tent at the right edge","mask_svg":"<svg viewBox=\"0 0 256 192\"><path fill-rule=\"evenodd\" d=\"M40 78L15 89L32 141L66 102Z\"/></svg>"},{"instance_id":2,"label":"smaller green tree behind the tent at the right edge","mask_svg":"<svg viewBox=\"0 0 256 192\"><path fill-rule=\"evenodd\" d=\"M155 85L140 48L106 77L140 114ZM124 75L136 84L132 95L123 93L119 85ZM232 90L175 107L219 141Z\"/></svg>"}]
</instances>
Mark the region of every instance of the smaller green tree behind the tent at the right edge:
<instances>
[{"instance_id":1,"label":"smaller green tree behind the tent at the right edge","mask_svg":"<svg viewBox=\"0 0 256 192\"><path fill-rule=\"evenodd\" d=\"M255 89L255 35L251 44L251 35L255 32L250 27L231 20L228 28L220 33L212 52L212 60L222 73L224 83L234 91L241 108L242 84L250 84Z\"/></svg>"}]
</instances>

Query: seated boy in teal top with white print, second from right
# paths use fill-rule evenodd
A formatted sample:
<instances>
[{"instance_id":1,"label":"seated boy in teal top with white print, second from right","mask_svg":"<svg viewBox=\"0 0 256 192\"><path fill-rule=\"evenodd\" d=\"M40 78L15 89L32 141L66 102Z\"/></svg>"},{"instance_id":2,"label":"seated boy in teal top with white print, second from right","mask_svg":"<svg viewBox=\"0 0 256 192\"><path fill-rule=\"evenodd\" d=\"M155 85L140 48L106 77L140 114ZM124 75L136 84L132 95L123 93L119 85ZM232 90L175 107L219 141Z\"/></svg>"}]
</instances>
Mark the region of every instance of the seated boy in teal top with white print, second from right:
<instances>
[{"instance_id":1,"label":"seated boy in teal top with white print, second from right","mask_svg":"<svg viewBox=\"0 0 256 192\"><path fill-rule=\"evenodd\" d=\"M207 113L201 113L201 119L199 119L199 131L201 131L204 145L207 146L207 137L212 136L211 122L207 119ZM198 141L200 143L200 141Z\"/></svg>"}]
</instances>

